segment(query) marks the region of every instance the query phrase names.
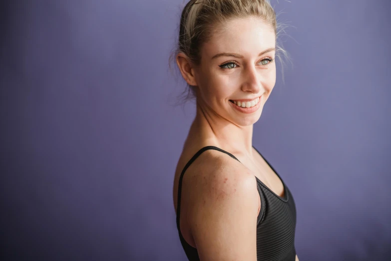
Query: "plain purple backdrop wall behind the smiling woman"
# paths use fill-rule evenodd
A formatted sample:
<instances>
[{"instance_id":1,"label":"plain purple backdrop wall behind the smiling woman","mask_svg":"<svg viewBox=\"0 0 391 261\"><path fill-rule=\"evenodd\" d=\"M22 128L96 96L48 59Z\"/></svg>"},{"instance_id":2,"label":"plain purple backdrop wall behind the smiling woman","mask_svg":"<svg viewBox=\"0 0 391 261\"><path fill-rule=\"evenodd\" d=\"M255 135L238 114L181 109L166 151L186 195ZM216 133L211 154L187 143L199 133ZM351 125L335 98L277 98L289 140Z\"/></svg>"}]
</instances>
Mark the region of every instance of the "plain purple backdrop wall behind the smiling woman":
<instances>
[{"instance_id":1,"label":"plain purple backdrop wall behind the smiling woman","mask_svg":"<svg viewBox=\"0 0 391 261\"><path fill-rule=\"evenodd\" d=\"M389 0L272 0L288 21L253 144L297 204L305 260L389 260ZM182 0L4 0L2 260L185 260L172 180Z\"/></svg>"}]
</instances>

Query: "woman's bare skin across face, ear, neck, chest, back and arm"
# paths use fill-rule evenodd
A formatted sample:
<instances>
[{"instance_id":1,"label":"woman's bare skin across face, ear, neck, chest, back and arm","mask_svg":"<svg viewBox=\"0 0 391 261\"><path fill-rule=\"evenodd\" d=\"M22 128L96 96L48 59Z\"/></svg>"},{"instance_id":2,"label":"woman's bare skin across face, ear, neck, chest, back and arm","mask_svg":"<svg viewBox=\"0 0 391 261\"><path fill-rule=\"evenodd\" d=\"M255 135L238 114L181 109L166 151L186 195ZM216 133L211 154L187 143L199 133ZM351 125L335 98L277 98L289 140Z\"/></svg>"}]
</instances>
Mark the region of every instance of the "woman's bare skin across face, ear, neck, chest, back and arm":
<instances>
[{"instance_id":1,"label":"woman's bare skin across face, ear, neck, chest, back and arm","mask_svg":"<svg viewBox=\"0 0 391 261\"><path fill-rule=\"evenodd\" d=\"M276 82L275 33L258 17L236 18L216 27L201 46L201 62L179 53L178 67L197 93L196 117L176 168L173 198L177 209L178 180L186 162L203 152L182 180L180 230L197 248L201 261L257 260L256 222L261 208L257 176L276 194L284 188L276 173L253 149L253 124ZM218 57L216 57L217 54ZM261 96L253 113L236 110L229 101ZM298 261L298 257L296 256Z\"/></svg>"}]
</instances>

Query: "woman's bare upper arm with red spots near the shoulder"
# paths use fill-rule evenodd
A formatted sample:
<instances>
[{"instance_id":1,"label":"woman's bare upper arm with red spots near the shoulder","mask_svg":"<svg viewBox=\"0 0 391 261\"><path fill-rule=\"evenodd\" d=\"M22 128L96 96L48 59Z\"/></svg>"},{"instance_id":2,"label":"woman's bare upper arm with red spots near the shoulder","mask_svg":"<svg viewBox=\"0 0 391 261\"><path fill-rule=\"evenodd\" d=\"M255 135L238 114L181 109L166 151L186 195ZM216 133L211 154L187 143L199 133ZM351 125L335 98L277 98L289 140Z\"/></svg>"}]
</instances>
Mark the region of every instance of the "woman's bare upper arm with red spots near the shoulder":
<instances>
[{"instance_id":1,"label":"woman's bare upper arm with red spots near the shoulder","mask_svg":"<svg viewBox=\"0 0 391 261\"><path fill-rule=\"evenodd\" d=\"M189 224L200 260L256 261L255 176L244 167L215 168L196 187Z\"/></svg>"}]
</instances>

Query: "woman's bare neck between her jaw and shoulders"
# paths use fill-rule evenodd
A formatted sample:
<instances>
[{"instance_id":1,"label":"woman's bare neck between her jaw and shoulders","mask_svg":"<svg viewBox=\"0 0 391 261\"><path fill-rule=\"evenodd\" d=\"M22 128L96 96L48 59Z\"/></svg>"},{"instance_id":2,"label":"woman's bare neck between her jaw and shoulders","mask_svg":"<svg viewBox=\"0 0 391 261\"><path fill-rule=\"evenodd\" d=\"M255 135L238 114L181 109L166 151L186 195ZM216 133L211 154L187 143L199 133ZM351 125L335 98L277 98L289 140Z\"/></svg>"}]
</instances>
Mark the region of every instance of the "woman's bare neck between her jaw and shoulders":
<instances>
[{"instance_id":1,"label":"woman's bare neck between her jaw and shoulders","mask_svg":"<svg viewBox=\"0 0 391 261\"><path fill-rule=\"evenodd\" d=\"M207 144L219 145L227 151L252 154L253 124L237 125L209 107L201 106L198 101L190 131Z\"/></svg>"}]
</instances>

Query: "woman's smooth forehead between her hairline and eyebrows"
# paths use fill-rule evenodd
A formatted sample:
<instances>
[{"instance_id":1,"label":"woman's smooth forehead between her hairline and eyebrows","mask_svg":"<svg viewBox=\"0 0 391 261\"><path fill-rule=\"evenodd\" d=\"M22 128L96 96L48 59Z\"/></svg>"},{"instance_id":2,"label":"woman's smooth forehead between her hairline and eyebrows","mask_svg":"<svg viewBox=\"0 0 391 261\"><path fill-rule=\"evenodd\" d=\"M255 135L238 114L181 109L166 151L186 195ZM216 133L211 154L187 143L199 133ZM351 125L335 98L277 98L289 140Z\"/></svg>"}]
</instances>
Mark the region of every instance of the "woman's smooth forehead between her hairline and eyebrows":
<instances>
[{"instance_id":1,"label":"woman's smooth forehead between her hairline and eyebrows","mask_svg":"<svg viewBox=\"0 0 391 261\"><path fill-rule=\"evenodd\" d=\"M257 17L235 18L217 27L201 48L202 56L212 57L219 52L258 55L275 47L274 28Z\"/></svg>"}]
</instances>

